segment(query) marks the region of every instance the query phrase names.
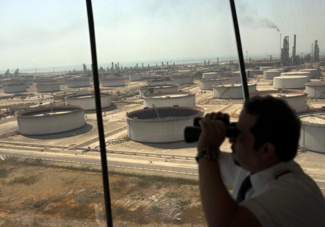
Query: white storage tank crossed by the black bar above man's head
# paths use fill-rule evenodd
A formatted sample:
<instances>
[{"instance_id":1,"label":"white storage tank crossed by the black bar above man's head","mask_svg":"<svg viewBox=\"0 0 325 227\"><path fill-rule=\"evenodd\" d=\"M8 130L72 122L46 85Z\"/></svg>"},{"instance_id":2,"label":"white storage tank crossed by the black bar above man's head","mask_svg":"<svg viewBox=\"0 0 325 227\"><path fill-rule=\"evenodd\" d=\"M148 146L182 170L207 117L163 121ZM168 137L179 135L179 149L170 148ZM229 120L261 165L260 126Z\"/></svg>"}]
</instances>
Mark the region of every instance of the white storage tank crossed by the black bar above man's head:
<instances>
[{"instance_id":1,"label":"white storage tank crossed by the black bar above man's head","mask_svg":"<svg viewBox=\"0 0 325 227\"><path fill-rule=\"evenodd\" d=\"M248 91L256 90L256 83L248 83ZM228 83L213 85L213 96L215 98L233 99L243 98L243 89L241 83Z\"/></svg>"}]
</instances>

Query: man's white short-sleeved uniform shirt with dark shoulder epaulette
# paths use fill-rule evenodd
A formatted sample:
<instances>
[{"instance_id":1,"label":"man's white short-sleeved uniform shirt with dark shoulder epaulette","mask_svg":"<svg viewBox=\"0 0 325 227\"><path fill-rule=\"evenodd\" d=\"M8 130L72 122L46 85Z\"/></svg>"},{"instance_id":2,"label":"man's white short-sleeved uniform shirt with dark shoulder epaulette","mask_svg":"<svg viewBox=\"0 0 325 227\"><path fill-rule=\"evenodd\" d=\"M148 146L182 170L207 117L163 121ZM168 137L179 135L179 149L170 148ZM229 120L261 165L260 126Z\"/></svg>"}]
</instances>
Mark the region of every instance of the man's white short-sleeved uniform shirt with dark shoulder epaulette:
<instances>
[{"instance_id":1,"label":"man's white short-sleeved uniform shirt with dark shoulder epaulette","mask_svg":"<svg viewBox=\"0 0 325 227\"><path fill-rule=\"evenodd\" d=\"M231 153L221 152L219 166L224 183L237 193L249 172L237 166ZM277 172L291 172L275 178ZM263 227L324 226L325 201L316 183L293 160L280 162L250 176L252 187L240 205L249 209Z\"/></svg>"}]
</instances>

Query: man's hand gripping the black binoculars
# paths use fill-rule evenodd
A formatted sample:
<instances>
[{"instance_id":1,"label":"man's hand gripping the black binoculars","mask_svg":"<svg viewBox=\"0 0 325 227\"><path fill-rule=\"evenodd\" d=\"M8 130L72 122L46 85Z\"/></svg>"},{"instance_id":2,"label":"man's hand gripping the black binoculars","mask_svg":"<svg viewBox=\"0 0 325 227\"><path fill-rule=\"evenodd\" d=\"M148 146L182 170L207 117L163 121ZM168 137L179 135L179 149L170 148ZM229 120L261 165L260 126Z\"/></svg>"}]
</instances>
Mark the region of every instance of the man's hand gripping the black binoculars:
<instances>
[{"instance_id":1,"label":"man's hand gripping the black binoculars","mask_svg":"<svg viewBox=\"0 0 325 227\"><path fill-rule=\"evenodd\" d=\"M229 115L212 112L199 121L202 131L197 143L198 151L207 147L219 149L226 136L226 124L220 120L221 118L229 119Z\"/></svg>"}]
</instances>

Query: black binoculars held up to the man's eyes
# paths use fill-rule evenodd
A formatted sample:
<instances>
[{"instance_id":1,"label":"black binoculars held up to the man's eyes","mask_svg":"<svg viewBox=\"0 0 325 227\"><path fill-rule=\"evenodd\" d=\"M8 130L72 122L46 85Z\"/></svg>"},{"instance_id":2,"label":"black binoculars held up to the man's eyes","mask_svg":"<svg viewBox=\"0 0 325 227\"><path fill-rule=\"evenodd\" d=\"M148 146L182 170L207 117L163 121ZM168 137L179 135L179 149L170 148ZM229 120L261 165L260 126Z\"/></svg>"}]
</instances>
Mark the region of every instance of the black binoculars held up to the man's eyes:
<instances>
[{"instance_id":1,"label":"black binoculars held up to the man's eyes","mask_svg":"<svg viewBox=\"0 0 325 227\"><path fill-rule=\"evenodd\" d=\"M199 120L201 117L194 118L194 126L187 126L184 130L184 138L186 142L196 142L201 134L201 127ZM239 130L236 126L236 122L230 123L228 118L220 118L226 124L226 137L236 138L239 134Z\"/></svg>"}]
</instances>

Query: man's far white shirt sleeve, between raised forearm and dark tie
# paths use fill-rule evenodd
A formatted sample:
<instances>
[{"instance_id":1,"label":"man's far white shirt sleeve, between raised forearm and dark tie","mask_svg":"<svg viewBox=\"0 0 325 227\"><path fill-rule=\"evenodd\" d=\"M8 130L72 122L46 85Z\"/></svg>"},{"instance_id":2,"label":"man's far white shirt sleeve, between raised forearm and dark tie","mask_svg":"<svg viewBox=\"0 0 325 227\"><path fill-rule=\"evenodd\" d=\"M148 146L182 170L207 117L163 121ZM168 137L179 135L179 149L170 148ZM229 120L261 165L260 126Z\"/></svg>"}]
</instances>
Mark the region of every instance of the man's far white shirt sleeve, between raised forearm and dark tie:
<instances>
[{"instance_id":1,"label":"man's far white shirt sleeve, between raised forearm and dark tie","mask_svg":"<svg viewBox=\"0 0 325 227\"><path fill-rule=\"evenodd\" d=\"M228 188L232 188L239 166L233 161L231 153L227 152L220 152L218 162L223 183Z\"/></svg>"}]
</instances>

